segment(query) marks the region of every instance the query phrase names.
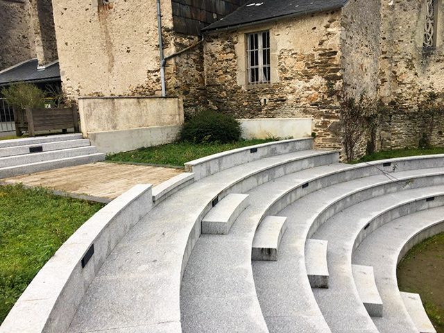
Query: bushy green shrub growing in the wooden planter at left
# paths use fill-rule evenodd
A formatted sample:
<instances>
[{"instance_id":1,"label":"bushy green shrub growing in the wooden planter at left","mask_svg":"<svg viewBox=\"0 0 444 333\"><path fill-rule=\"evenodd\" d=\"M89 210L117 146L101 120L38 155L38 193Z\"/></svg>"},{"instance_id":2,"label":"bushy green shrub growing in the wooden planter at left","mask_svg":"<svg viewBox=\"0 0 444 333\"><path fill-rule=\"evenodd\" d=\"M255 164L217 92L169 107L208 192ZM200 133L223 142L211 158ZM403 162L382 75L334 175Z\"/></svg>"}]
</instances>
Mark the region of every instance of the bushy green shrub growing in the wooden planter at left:
<instances>
[{"instance_id":1,"label":"bushy green shrub growing in the wooden planter at left","mask_svg":"<svg viewBox=\"0 0 444 333\"><path fill-rule=\"evenodd\" d=\"M1 94L5 96L6 103L9 105L24 109L26 105L31 108L43 108L46 94L31 83L13 83L8 88L1 90Z\"/></svg>"}]
</instances>

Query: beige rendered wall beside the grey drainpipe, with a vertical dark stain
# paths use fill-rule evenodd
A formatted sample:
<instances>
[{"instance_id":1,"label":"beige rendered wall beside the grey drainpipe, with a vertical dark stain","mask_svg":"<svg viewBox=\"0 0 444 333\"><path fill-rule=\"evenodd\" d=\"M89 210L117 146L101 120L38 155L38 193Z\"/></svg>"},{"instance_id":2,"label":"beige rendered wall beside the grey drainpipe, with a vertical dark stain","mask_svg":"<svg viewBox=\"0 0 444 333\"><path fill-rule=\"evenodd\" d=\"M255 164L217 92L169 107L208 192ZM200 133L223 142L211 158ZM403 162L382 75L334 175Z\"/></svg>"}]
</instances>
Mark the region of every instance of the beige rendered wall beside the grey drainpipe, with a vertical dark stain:
<instances>
[{"instance_id":1,"label":"beige rendered wall beside the grey drainpipe, with a vertical dark stain","mask_svg":"<svg viewBox=\"0 0 444 333\"><path fill-rule=\"evenodd\" d=\"M65 93L130 96L149 87L160 96L156 1L53 0L60 71ZM162 0L164 53L173 49L171 0Z\"/></svg>"}]
</instances>

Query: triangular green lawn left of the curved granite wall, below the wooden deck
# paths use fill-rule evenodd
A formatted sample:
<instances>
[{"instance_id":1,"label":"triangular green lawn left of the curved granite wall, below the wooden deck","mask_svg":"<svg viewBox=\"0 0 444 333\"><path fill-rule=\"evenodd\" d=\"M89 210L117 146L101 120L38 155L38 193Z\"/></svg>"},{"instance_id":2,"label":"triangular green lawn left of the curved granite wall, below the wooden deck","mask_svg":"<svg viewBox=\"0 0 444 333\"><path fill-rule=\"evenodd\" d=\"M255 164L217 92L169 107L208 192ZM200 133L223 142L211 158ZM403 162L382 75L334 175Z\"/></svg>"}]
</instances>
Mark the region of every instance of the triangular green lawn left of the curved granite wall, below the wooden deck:
<instances>
[{"instance_id":1,"label":"triangular green lawn left of the curved granite wall, below the wooden deck","mask_svg":"<svg viewBox=\"0 0 444 333\"><path fill-rule=\"evenodd\" d=\"M0 323L40 268L101 207L42 188L0 187Z\"/></svg>"}]
</instances>

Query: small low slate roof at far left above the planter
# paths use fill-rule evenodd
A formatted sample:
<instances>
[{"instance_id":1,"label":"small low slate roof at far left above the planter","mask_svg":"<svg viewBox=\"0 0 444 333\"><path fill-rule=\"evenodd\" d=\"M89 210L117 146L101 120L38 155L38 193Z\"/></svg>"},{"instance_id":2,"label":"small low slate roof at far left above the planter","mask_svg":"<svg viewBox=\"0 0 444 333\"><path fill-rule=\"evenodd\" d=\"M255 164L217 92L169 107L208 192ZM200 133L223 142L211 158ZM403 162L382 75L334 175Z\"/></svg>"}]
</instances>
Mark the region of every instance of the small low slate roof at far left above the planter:
<instances>
[{"instance_id":1,"label":"small low slate roof at far left above the planter","mask_svg":"<svg viewBox=\"0 0 444 333\"><path fill-rule=\"evenodd\" d=\"M28 60L18 66L0 71L0 86L9 83L24 81L27 83L44 83L60 81L58 62L37 71L37 59Z\"/></svg>"}]
</instances>

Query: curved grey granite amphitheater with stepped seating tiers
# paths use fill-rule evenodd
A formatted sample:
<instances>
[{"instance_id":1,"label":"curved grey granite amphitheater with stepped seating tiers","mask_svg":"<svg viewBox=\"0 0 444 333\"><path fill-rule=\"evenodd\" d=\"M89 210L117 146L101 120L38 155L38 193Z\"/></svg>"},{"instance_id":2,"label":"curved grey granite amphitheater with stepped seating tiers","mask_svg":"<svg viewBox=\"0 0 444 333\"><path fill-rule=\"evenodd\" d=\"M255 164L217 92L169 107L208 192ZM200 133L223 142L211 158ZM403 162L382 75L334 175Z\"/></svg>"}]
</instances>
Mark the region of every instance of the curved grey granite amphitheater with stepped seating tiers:
<instances>
[{"instance_id":1,"label":"curved grey granite amphitheater with stepped seating tiers","mask_svg":"<svg viewBox=\"0 0 444 333\"><path fill-rule=\"evenodd\" d=\"M189 162L92 216L0 332L435 332L396 266L444 231L443 161L308 138Z\"/></svg>"}]
</instances>

